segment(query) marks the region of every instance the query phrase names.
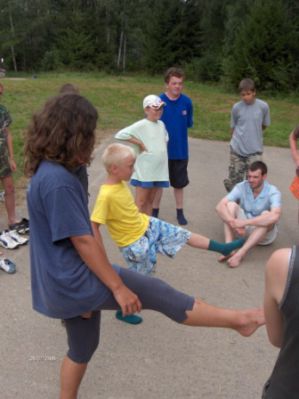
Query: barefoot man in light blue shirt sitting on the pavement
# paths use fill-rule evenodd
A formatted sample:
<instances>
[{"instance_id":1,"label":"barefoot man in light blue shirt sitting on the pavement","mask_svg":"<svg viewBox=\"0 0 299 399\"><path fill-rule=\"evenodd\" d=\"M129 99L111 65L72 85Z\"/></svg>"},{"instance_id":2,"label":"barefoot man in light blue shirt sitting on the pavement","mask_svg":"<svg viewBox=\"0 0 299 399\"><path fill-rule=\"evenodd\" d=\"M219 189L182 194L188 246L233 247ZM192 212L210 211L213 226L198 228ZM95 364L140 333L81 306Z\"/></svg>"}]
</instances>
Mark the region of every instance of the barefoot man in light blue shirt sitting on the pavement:
<instances>
[{"instance_id":1,"label":"barefoot man in light blue shirt sitting on the pavement","mask_svg":"<svg viewBox=\"0 0 299 399\"><path fill-rule=\"evenodd\" d=\"M267 166L262 161L253 162L247 180L237 184L218 203L216 210L224 221L225 241L235 236L246 236L244 245L234 254L222 256L230 267L240 265L250 248L269 245L277 236L277 225L281 214L281 194L269 184Z\"/></svg>"}]
</instances>

